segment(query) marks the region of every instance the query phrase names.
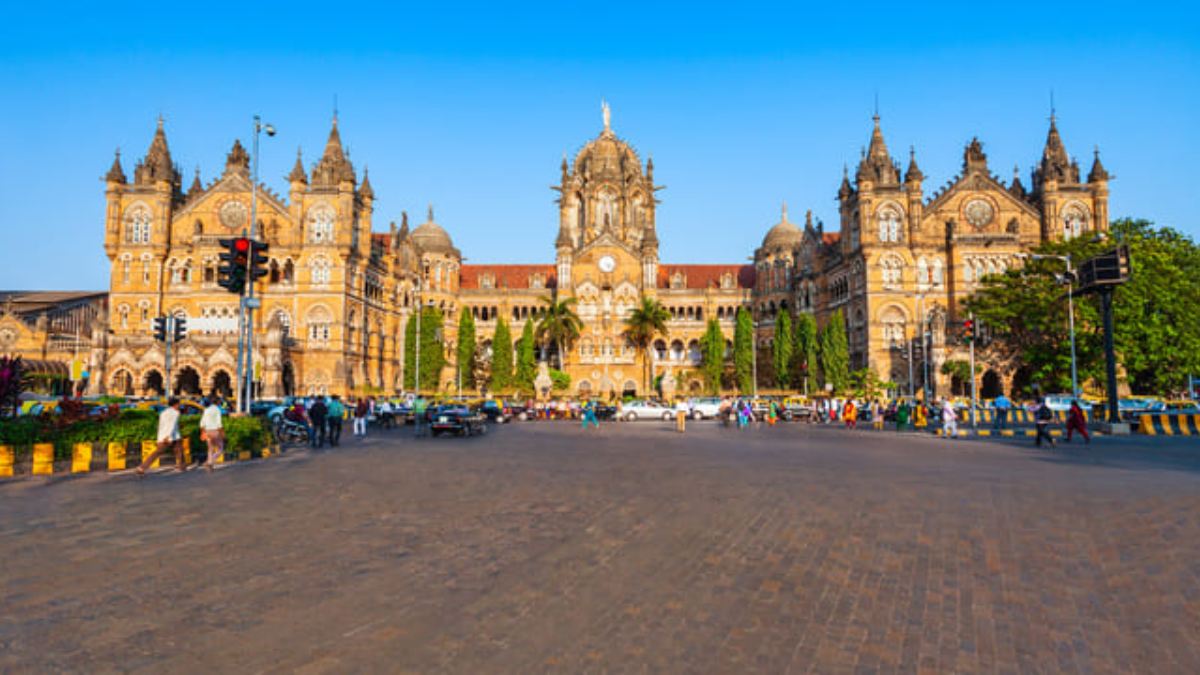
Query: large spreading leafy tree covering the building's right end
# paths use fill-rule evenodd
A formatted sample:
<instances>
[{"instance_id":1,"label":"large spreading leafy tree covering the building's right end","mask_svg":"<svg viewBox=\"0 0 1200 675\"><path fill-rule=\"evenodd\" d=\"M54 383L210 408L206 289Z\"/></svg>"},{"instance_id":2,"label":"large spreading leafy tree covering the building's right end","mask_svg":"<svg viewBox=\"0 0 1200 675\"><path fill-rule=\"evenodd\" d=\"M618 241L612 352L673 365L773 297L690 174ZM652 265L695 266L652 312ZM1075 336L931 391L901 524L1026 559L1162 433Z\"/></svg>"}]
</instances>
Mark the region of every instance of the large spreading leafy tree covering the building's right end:
<instances>
[{"instance_id":1,"label":"large spreading leafy tree covering the building's right end","mask_svg":"<svg viewBox=\"0 0 1200 675\"><path fill-rule=\"evenodd\" d=\"M1117 220L1106 240L1078 237L1043 244L1034 252L1070 256L1074 267L1129 246L1129 281L1114 293L1114 341L1118 363L1138 393L1166 394L1183 388L1188 372L1200 372L1200 247L1171 228L1145 220ZM1024 368L1045 392L1070 390L1070 341L1064 265L1030 259L1019 269L985 277L966 306L991 342L985 357ZM1075 344L1080 383L1104 382L1099 299L1075 295Z\"/></svg>"}]
</instances>

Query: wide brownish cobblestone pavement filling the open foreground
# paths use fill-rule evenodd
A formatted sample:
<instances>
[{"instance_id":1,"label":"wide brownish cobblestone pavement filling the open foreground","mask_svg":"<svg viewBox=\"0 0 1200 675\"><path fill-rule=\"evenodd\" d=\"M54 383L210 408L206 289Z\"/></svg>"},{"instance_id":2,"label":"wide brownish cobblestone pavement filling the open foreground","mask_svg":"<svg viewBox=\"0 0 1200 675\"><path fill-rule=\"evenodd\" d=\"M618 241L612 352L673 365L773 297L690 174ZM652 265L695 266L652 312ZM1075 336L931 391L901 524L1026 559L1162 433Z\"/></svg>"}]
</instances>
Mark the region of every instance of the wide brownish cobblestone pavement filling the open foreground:
<instances>
[{"instance_id":1,"label":"wide brownish cobblestone pavement filling the open foreground","mask_svg":"<svg viewBox=\"0 0 1200 675\"><path fill-rule=\"evenodd\" d=\"M347 440L0 485L0 671L1200 673L1200 443Z\"/></svg>"}]
</instances>

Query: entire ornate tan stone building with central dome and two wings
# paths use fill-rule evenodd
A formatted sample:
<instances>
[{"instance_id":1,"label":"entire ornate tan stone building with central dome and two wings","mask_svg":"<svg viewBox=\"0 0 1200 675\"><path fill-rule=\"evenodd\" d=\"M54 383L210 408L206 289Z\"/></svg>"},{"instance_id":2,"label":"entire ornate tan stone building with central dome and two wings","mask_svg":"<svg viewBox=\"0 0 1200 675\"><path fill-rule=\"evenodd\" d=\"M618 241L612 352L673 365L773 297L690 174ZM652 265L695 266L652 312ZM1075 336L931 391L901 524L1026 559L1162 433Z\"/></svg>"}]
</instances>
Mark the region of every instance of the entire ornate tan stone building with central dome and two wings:
<instances>
[{"instance_id":1,"label":"entire ornate tan stone building with central dome and two wings","mask_svg":"<svg viewBox=\"0 0 1200 675\"><path fill-rule=\"evenodd\" d=\"M89 341L92 393L163 389L164 354L150 333L152 318L166 313L191 325L173 389L232 390L238 298L217 286L217 240L250 227L248 167L234 142L221 175L204 183L197 171L185 190L161 120L132 180L120 156L113 161L104 177L112 279L108 311ZM754 310L763 347L780 309L812 312L818 323L842 309L852 365L904 384L907 346L922 327L931 334L934 374L956 358L958 305L983 276L1020 264L1040 241L1108 223L1108 174L1097 157L1082 181L1054 121L1028 190L1015 177L996 178L972 141L961 174L926 197L916 159L901 174L876 118L854 180L844 175L838 192L839 231L824 232L811 213L797 226L785 207L754 264L660 262L654 163L613 133L607 107L600 135L574 161L563 159L553 263L463 264L432 208L413 229L402 216L400 227L373 232L374 193L344 153L336 117L319 161L306 169L298 156L287 179L287 196L258 187L258 227L270 244L270 275L256 286L263 305L254 380L263 396L400 390L404 327L418 301L445 312L442 382L450 388L460 312L475 317L487 351L498 317L516 338L550 295L578 301L584 330L564 354L578 392L642 393L641 357L622 333L646 295L672 316L650 365L655 374L671 370L683 389L698 387L706 321L716 318L732 339L740 306Z\"/></svg>"}]
</instances>

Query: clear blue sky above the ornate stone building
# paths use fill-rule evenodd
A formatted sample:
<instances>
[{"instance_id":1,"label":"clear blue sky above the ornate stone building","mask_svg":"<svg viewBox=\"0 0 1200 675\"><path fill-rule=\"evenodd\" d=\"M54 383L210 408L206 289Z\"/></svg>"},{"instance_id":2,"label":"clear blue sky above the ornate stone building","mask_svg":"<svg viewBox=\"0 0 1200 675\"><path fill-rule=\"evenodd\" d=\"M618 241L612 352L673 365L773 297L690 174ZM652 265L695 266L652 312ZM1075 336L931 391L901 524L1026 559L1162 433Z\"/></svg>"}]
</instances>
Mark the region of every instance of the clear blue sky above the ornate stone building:
<instances>
[{"instance_id":1,"label":"clear blue sky above the ornate stone building","mask_svg":"<svg viewBox=\"0 0 1200 675\"><path fill-rule=\"evenodd\" d=\"M1114 216L1200 235L1200 11L1129 4L62 4L0 25L0 288L104 288L103 184L155 118L191 181L253 113L284 192L337 97L371 168L376 229L433 203L469 262L550 262L563 153L601 127L654 156L665 262L739 262L779 220L836 227L844 163L874 100L893 154L931 192L972 136L1006 180L1045 139L1050 92L1084 171L1099 145ZM44 7L44 8L43 8Z\"/></svg>"}]
</instances>

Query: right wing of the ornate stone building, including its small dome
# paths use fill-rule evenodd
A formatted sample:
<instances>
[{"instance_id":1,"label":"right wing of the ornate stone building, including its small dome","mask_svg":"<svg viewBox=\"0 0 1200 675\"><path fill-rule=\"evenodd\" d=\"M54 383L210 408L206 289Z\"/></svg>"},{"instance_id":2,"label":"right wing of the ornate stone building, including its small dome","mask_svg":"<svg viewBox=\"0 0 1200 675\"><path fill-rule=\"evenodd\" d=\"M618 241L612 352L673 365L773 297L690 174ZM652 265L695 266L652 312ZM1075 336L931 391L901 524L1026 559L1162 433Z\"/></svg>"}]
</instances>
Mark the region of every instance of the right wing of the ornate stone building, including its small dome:
<instances>
[{"instance_id":1,"label":"right wing of the ornate stone building, including its small dome","mask_svg":"<svg viewBox=\"0 0 1200 675\"><path fill-rule=\"evenodd\" d=\"M902 390L910 382L919 388L928 351L931 383L946 393L941 365L967 358L958 340L961 301L1043 241L1108 229L1109 174L1097 151L1081 180L1051 117L1028 190L1015 169L1007 184L992 174L977 138L962 153L962 171L928 197L924 178L916 153L901 174L876 115L853 183L845 172L838 190L839 231L811 220L803 231L775 226L755 252L755 304L768 324L780 306L814 312L821 324L840 309L851 368L870 366ZM769 334L768 327L760 339ZM1001 370L979 370L983 395L1009 390L1014 372Z\"/></svg>"}]
</instances>

